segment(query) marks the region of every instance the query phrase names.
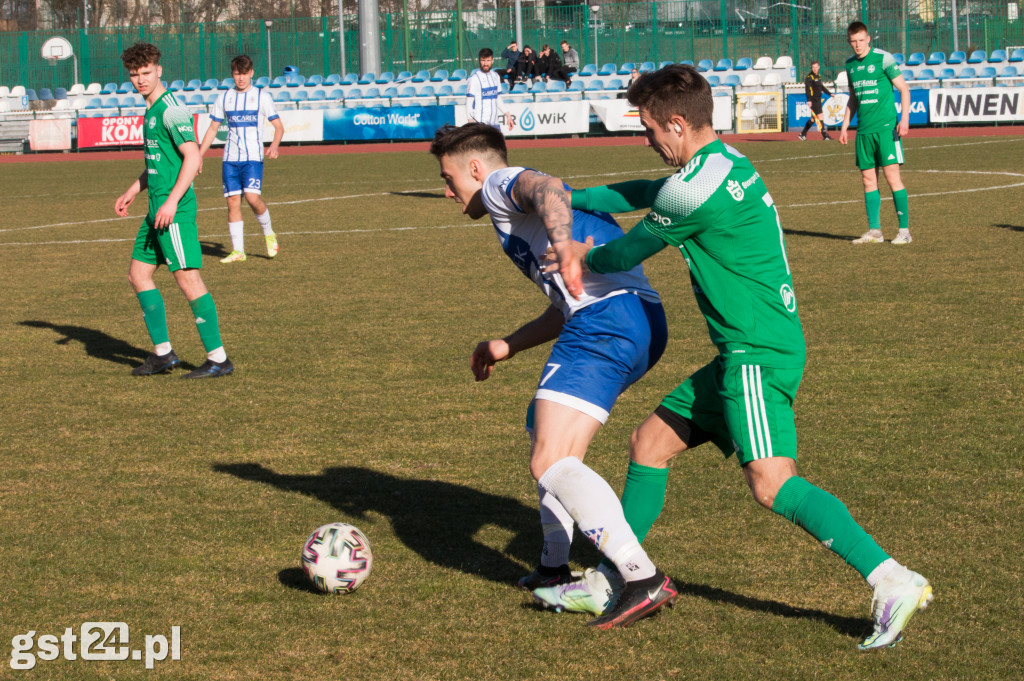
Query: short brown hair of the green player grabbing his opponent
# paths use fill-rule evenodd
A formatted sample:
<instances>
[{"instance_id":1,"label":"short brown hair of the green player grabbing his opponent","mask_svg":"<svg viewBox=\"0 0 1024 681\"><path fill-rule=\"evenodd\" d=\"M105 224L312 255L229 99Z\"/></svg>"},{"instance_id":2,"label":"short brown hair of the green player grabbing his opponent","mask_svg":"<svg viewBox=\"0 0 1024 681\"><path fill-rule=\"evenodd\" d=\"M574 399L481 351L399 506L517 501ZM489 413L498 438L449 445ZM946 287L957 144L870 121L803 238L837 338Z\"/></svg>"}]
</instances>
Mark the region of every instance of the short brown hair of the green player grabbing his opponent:
<instances>
[{"instance_id":1,"label":"short brown hair of the green player grabbing his opponent","mask_svg":"<svg viewBox=\"0 0 1024 681\"><path fill-rule=\"evenodd\" d=\"M662 126L668 125L673 116L681 116L694 131L711 127L715 110L711 85L689 65L673 63L641 74L626 96Z\"/></svg>"}]
</instances>

